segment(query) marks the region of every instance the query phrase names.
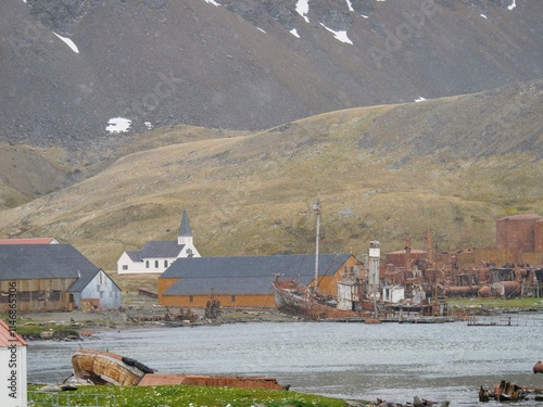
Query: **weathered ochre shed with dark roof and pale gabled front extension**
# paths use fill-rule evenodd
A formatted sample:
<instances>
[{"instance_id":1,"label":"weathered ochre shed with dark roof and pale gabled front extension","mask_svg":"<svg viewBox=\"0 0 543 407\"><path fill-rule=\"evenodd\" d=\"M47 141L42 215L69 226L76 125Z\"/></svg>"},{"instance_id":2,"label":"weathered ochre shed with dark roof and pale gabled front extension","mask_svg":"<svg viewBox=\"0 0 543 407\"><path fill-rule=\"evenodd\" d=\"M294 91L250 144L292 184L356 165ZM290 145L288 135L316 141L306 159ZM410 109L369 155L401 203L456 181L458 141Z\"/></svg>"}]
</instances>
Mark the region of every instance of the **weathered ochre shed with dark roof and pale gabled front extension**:
<instances>
[{"instance_id":1,"label":"weathered ochre shed with dark roof and pale gabled front extension","mask_svg":"<svg viewBox=\"0 0 543 407\"><path fill-rule=\"evenodd\" d=\"M71 244L0 244L0 311L121 306L121 289Z\"/></svg>"}]
</instances>

